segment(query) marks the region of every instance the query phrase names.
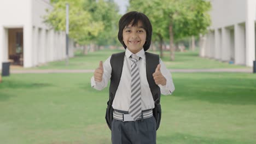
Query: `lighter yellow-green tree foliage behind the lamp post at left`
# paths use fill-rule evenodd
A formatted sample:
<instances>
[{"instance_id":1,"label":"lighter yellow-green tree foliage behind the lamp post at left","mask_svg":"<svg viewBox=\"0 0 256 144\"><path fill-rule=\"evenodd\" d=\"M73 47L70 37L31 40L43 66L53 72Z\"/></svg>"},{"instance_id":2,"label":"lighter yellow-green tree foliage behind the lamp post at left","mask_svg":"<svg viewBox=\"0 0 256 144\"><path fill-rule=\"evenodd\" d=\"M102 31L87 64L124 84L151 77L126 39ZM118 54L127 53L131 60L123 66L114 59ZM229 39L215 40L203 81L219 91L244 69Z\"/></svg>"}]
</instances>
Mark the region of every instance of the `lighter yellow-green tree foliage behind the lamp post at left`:
<instances>
[{"instance_id":1,"label":"lighter yellow-green tree foliage behind the lamp post at left","mask_svg":"<svg viewBox=\"0 0 256 144\"><path fill-rule=\"evenodd\" d=\"M102 31L103 23L93 21L92 15L83 9L82 0L54 1L54 9L45 16L45 22L49 23L56 31L66 29L66 3L69 4L69 37L78 44L86 44L91 35L98 35Z\"/></svg>"}]
</instances>

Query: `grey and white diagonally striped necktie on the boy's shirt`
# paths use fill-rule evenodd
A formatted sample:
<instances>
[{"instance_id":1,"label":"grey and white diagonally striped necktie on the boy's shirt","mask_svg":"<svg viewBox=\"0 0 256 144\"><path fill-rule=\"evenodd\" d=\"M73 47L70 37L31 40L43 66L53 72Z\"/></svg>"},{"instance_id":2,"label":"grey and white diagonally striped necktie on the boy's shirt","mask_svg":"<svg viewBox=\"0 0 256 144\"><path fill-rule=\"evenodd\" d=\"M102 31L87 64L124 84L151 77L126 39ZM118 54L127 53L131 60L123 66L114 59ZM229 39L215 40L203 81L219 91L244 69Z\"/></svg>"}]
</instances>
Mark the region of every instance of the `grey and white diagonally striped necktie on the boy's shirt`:
<instances>
[{"instance_id":1,"label":"grey and white diagonally striped necktie on the boy's shirt","mask_svg":"<svg viewBox=\"0 0 256 144\"><path fill-rule=\"evenodd\" d=\"M129 113L134 121L141 116L141 81L139 79L139 69L136 62L139 57L132 54L131 56L131 103Z\"/></svg>"}]
</instances>

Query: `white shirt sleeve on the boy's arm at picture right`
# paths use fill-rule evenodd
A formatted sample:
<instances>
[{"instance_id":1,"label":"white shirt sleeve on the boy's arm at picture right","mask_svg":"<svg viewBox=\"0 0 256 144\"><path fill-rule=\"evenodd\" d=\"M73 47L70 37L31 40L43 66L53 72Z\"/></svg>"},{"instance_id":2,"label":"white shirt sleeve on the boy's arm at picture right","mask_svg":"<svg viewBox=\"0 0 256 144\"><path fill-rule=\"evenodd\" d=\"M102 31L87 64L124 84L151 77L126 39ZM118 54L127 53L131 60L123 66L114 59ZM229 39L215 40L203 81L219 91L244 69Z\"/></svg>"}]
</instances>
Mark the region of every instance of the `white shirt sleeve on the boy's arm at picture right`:
<instances>
[{"instance_id":1,"label":"white shirt sleeve on the boy's arm at picture right","mask_svg":"<svg viewBox=\"0 0 256 144\"><path fill-rule=\"evenodd\" d=\"M160 87L161 94L164 94L164 95L172 94L172 92L175 89L173 81L172 81L172 75L171 75L170 71L165 67L165 64L162 62L161 59L159 59L159 63L161 64L160 71L166 79L165 86L158 85Z\"/></svg>"}]
</instances>

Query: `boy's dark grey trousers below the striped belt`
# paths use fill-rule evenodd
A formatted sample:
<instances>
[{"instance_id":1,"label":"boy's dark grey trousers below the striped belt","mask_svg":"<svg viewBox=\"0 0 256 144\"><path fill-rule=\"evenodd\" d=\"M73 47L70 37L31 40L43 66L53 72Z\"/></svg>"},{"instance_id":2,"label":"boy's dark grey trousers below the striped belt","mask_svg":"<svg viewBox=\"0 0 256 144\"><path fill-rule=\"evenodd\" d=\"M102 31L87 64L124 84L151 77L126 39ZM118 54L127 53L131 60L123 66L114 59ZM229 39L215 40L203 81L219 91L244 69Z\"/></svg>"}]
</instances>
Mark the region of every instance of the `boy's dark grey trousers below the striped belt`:
<instances>
[{"instance_id":1,"label":"boy's dark grey trousers below the striped belt","mask_svg":"<svg viewBox=\"0 0 256 144\"><path fill-rule=\"evenodd\" d=\"M156 144L155 118L135 122L113 119L111 140L112 144Z\"/></svg>"}]
</instances>

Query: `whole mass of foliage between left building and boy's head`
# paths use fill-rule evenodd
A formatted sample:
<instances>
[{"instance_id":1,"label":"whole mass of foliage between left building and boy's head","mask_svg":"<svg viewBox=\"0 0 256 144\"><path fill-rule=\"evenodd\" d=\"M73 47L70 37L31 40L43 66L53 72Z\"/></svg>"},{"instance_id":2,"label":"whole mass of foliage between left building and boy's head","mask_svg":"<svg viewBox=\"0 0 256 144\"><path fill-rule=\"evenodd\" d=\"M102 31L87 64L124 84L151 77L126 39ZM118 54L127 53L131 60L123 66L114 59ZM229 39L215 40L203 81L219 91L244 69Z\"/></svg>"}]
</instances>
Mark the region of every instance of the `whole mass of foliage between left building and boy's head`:
<instances>
[{"instance_id":1,"label":"whole mass of foliage between left building and boy's head","mask_svg":"<svg viewBox=\"0 0 256 144\"><path fill-rule=\"evenodd\" d=\"M66 29L66 3L69 4L69 37L79 44L106 45L115 43L118 7L113 1L51 0L54 9L48 10L45 22L56 31ZM109 36L109 35L110 36ZM117 34L115 34L117 35ZM106 40L107 39L107 40ZM112 41L109 39L113 39Z\"/></svg>"}]
</instances>

